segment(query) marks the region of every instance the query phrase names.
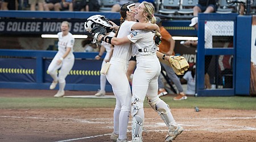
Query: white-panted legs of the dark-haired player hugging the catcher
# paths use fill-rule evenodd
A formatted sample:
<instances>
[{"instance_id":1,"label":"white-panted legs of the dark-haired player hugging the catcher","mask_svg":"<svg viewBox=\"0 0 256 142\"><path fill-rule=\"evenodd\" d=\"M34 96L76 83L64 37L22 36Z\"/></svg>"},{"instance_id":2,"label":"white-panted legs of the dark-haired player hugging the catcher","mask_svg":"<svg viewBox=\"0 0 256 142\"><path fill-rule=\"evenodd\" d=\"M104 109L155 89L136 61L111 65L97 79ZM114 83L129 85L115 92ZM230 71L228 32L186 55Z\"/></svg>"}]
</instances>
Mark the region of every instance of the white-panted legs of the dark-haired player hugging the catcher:
<instances>
[{"instance_id":1,"label":"white-panted legs of the dark-haired player hugging the catcher","mask_svg":"<svg viewBox=\"0 0 256 142\"><path fill-rule=\"evenodd\" d=\"M109 66L108 73L106 73L106 78L108 79L109 83L112 85L113 92L115 94L116 99L121 104L121 110L119 114L119 118L114 118L115 120L119 119L119 140L126 140L127 136L127 126L129 122L129 115L131 110L131 90L128 79L126 77L126 70L127 70L127 63L126 61L115 61L112 59L110 61L111 65ZM118 80L116 79L118 78ZM117 102L117 103L119 103ZM118 111L120 107L117 105L115 106L115 111ZM115 114L114 114L115 117ZM116 121L114 121L115 123ZM118 125L117 125L118 126ZM117 129L114 124L114 129Z\"/></svg>"}]
</instances>

